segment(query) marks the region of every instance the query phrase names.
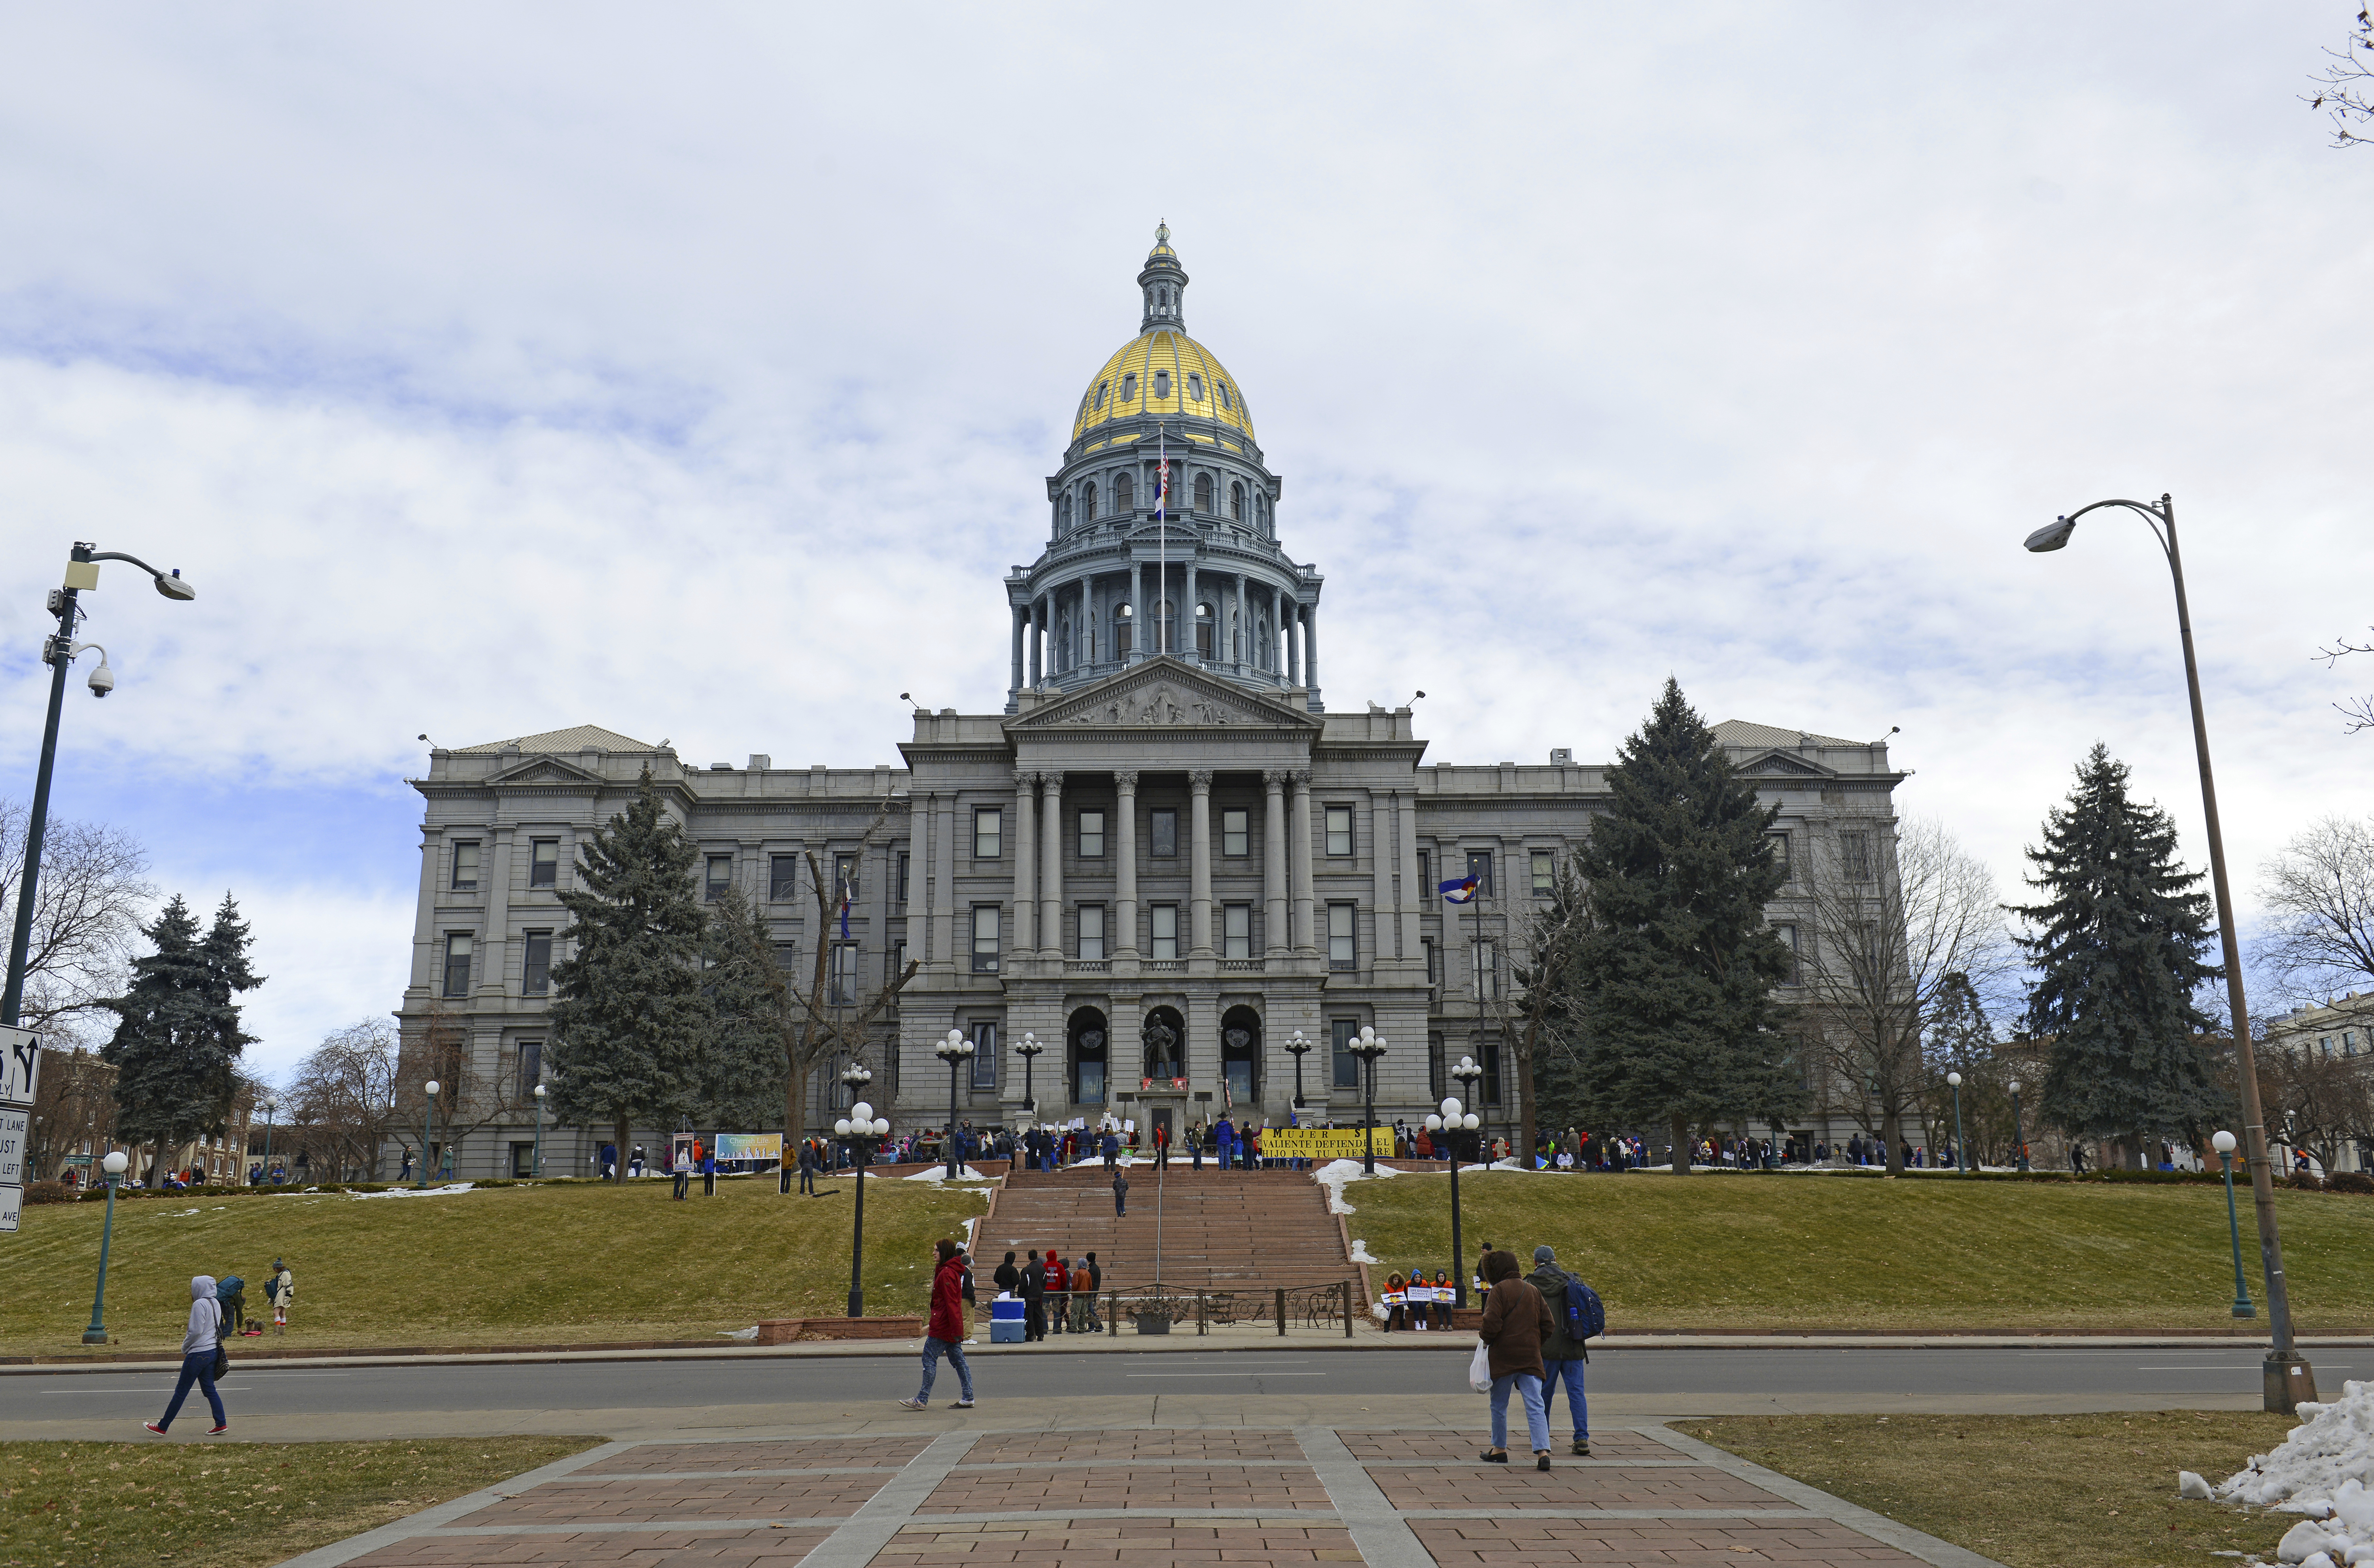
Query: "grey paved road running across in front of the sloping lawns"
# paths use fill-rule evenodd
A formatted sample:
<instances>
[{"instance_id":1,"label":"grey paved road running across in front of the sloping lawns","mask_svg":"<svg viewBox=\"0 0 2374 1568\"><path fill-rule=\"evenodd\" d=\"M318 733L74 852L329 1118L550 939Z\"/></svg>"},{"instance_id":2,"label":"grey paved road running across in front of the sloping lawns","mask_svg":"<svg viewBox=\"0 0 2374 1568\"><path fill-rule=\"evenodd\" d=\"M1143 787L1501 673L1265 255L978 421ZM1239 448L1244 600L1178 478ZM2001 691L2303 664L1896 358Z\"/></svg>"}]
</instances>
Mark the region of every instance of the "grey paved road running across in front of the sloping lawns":
<instances>
[{"instance_id":1,"label":"grey paved road running across in front of the sloping lawns","mask_svg":"<svg viewBox=\"0 0 2374 1568\"><path fill-rule=\"evenodd\" d=\"M2338 1392L2374 1350L2329 1350L2317 1378ZM2362 1364L2362 1366L2353 1366ZM1218 1355L983 1355L985 1400L1291 1395L1296 1400L1472 1400L1467 1352L1218 1352ZM945 1378L947 1373L942 1373ZM912 1383L904 1359L594 1362L491 1366L240 1366L223 1383L242 1416L370 1416L389 1411L570 1411L874 1404ZM19 1421L116 1419L161 1409L171 1378L145 1373L19 1373L0 1381ZM1904 1400L1904 1409L2056 1409L2139 1404L2258 1404L2253 1350L1602 1350L1593 1400L1626 1409L1814 1407ZM195 1397L195 1395L192 1395Z\"/></svg>"}]
</instances>

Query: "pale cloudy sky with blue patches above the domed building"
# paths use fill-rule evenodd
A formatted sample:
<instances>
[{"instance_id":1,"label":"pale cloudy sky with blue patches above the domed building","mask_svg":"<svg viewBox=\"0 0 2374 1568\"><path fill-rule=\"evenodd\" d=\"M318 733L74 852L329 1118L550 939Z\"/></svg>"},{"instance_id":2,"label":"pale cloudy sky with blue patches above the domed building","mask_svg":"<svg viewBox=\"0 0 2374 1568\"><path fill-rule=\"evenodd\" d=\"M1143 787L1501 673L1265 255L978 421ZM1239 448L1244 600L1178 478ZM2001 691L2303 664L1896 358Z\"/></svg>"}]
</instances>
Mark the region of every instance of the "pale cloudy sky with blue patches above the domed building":
<instances>
[{"instance_id":1,"label":"pale cloudy sky with blue patches above the domed building","mask_svg":"<svg viewBox=\"0 0 2374 1568\"><path fill-rule=\"evenodd\" d=\"M2374 152L2350 0L0 12L0 792L74 538L57 811L247 906L259 1065L399 1001L430 733L895 761L1168 218L1329 702L1436 761L1871 738L2016 885L2103 740L2236 878L2365 811ZM1477 19L1481 17L1481 19ZM2365 664L2365 659L2360 659Z\"/></svg>"}]
</instances>

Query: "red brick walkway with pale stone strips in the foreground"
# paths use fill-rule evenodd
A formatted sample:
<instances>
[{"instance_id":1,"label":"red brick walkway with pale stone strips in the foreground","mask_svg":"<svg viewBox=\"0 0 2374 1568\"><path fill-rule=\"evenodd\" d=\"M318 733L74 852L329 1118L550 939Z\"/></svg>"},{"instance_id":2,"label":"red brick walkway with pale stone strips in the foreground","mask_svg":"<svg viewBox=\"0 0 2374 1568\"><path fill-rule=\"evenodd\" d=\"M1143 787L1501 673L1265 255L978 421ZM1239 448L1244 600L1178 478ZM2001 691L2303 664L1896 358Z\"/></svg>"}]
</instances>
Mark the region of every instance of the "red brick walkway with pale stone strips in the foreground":
<instances>
[{"instance_id":1,"label":"red brick walkway with pale stone strips in the foreground","mask_svg":"<svg viewBox=\"0 0 2374 1568\"><path fill-rule=\"evenodd\" d=\"M1161 1568L1985 1559L1662 1426L1477 1461L1429 1430L950 1430L610 1442L292 1568Z\"/></svg>"}]
</instances>

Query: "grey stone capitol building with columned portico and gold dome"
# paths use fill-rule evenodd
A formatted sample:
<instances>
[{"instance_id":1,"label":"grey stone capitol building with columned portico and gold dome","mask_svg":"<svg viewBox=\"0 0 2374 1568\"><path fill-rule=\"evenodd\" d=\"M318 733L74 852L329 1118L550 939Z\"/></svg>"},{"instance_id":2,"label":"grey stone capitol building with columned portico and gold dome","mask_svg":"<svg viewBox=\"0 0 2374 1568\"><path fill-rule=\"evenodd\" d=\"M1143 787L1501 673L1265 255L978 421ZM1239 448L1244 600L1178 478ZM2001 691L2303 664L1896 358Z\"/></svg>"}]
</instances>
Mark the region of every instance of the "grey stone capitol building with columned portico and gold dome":
<instances>
[{"instance_id":1,"label":"grey stone capitol building with columned portico and gold dome","mask_svg":"<svg viewBox=\"0 0 2374 1568\"><path fill-rule=\"evenodd\" d=\"M1047 479L1045 546L1002 584L1002 702L916 712L897 766L686 764L591 724L430 754L411 780L425 811L399 1020L408 1046L437 1022L468 1053L484 1103L461 1124L461 1177L527 1169L570 923L556 894L643 769L698 844L707 897L755 899L802 977L817 942L857 1001L921 965L867 1048L869 1096L900 1132L947 1117L933 1046L950 1030L978 1044L957 1096L976 1127L1028 1120L1026 1034L1045 1048L1028 1065L1037 1120L1182 1127L1220 1110L1284 1122L1296 1091L1306 1120L1358 1117L1363 1027L1386 1037L1379 1120L1422 1117L1474 1056L1477 1110L1515 1129L1493 1008L1607 769L1564 747L1429 764L1408 707L1322 702L1327 579L1282 543L1253 399L1187 337L1168 230L1137 294L1140 330L1090 375ZM1790 863L1814 837L1892 837L1904 773L1883 740L1714 733L1780 807ZM855 890L845 942L838 920L817 928L810 856ZM1446 906L1436 882L1462 875L1481 897ZM1795 892L1771 911L1790 942ZM848 1096L819 1077L812 1115L831 1120ZM665 1132L636 1139L660 1148ZM584 1174L603 1136L546 1127L546 1169Z\"/></svg>"}]
</instances>

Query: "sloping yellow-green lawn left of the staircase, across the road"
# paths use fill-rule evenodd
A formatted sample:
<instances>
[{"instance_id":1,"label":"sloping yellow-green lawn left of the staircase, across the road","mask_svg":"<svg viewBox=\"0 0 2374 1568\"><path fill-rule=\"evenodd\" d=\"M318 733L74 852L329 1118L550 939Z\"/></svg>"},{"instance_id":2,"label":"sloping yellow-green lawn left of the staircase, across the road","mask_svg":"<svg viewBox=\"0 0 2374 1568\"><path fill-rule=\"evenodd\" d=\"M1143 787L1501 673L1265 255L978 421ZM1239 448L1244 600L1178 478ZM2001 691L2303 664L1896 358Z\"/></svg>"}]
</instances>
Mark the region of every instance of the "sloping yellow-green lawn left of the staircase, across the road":
<instances>
[{"instance_id":1,"label":"sloping yellow-green lawn left of the staircase, across the road","mask_svg":"<svg viewBox=\"0 0 2374 1568\"><path fill-rule=\"evenodd\" d=\"M850 1300L852 1177L783 1198L774 1177L669 1200L669 1181L506 1186L437 1198L273 1193L116 1203L112 1350L180 1345L192 1274L240 1274L271 1324L273 1257L297 1274L280 1345L558 1345L703 1340ZM867 1312L921 1312L931 1243L964 1236L983 1191L867 1179ZM100 1203L28 1205L0 1236L0 1355L81 1352ZM242 1345L275 1345L233 1340Z\"/></svg>"}]
</instances>

